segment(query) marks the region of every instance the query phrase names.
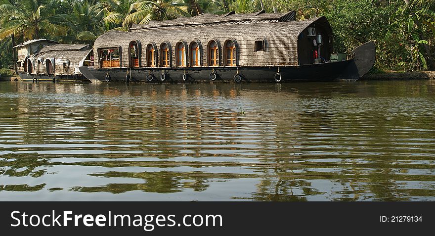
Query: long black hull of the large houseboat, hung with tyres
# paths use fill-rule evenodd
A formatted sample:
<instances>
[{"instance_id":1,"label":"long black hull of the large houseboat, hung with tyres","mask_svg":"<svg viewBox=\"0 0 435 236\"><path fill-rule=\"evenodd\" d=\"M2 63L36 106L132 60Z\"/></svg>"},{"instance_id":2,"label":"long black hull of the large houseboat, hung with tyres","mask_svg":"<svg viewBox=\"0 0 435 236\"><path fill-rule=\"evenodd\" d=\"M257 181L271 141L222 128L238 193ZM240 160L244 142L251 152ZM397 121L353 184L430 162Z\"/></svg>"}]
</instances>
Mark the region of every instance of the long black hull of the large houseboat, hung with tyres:
<instances>
[{"instance_id":1,"label":"long black hull of the large houseboat, hung with tyres","mask_svg":"<svg viewBox=\"0 0 435 236\"><path fill-rule=\"evenodd\" d=\"M80 67L90 80L104 82L146 83L254 83L254 82L311 82L356 81L373 66L376 50L374 42L357 47L351 60L302 66L270 67L185 67L185 68L100 68ZM276 81L279 72L281 79ZM216 80L211 80L216 73ZM165 74L165 80L161 75ZM149 76L149 75L152 75ZM236 81L239 75L241 80ZM148 80L147 80L148 78ZM151 80L152 79L152 80ZM279 77L278 77L279 79Z\"/></svg>"}]
</instances>

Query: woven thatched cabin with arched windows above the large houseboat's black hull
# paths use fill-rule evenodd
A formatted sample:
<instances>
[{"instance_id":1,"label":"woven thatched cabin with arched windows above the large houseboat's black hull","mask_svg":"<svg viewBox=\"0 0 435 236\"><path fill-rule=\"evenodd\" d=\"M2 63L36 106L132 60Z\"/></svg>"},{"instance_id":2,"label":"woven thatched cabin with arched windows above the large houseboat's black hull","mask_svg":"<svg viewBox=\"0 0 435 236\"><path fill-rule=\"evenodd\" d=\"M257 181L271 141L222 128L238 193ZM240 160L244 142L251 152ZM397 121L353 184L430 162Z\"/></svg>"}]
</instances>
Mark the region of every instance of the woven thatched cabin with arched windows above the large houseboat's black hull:
<instances>
[{"instance_id":1,"label":"woven thatched cabin with arched windows above the large houseboat's black hull","mask_svg":"<svg viewBox=\"0 0 435 236\"><path fill-rule=\"evenodd\" d=\"M319 34L320 54L329 60L332 30L326 18L295 21L295 14L204 13L133 25L131 32L110 31L95 41L95 68L311 64ZM310 36L309 28L316 34Z\"/></svg>"}]
</instances>

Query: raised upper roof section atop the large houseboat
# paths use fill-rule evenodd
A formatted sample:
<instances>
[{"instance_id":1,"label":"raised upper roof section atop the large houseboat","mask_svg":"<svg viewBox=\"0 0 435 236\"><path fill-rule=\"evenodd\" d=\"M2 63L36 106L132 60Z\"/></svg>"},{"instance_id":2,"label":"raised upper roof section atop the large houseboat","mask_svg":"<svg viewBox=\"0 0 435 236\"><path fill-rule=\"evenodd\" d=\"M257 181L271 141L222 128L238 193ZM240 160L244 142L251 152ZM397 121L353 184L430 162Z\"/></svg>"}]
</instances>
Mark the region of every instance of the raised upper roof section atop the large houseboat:
<instances>
[{"instance_id":1,"label":"raised upper roof section atop the large houseboat","mask_svg":"<svg viewBox=\"0 0 435 236\"><path fill-rule=\"evenodd\" d=\"M241 23L259 23L259 22L284 22L294 21L296 11L286 13L265 13L264 10L255 13L235 14L234 11L215 15L211 13L202 13L194 17L178 17L174 20L150 21L148 24L133 24L131 31L144 31L155 28L179 28L192 26L210 26L216 24L241 24Z\"/></svg>"}]
</instances>

